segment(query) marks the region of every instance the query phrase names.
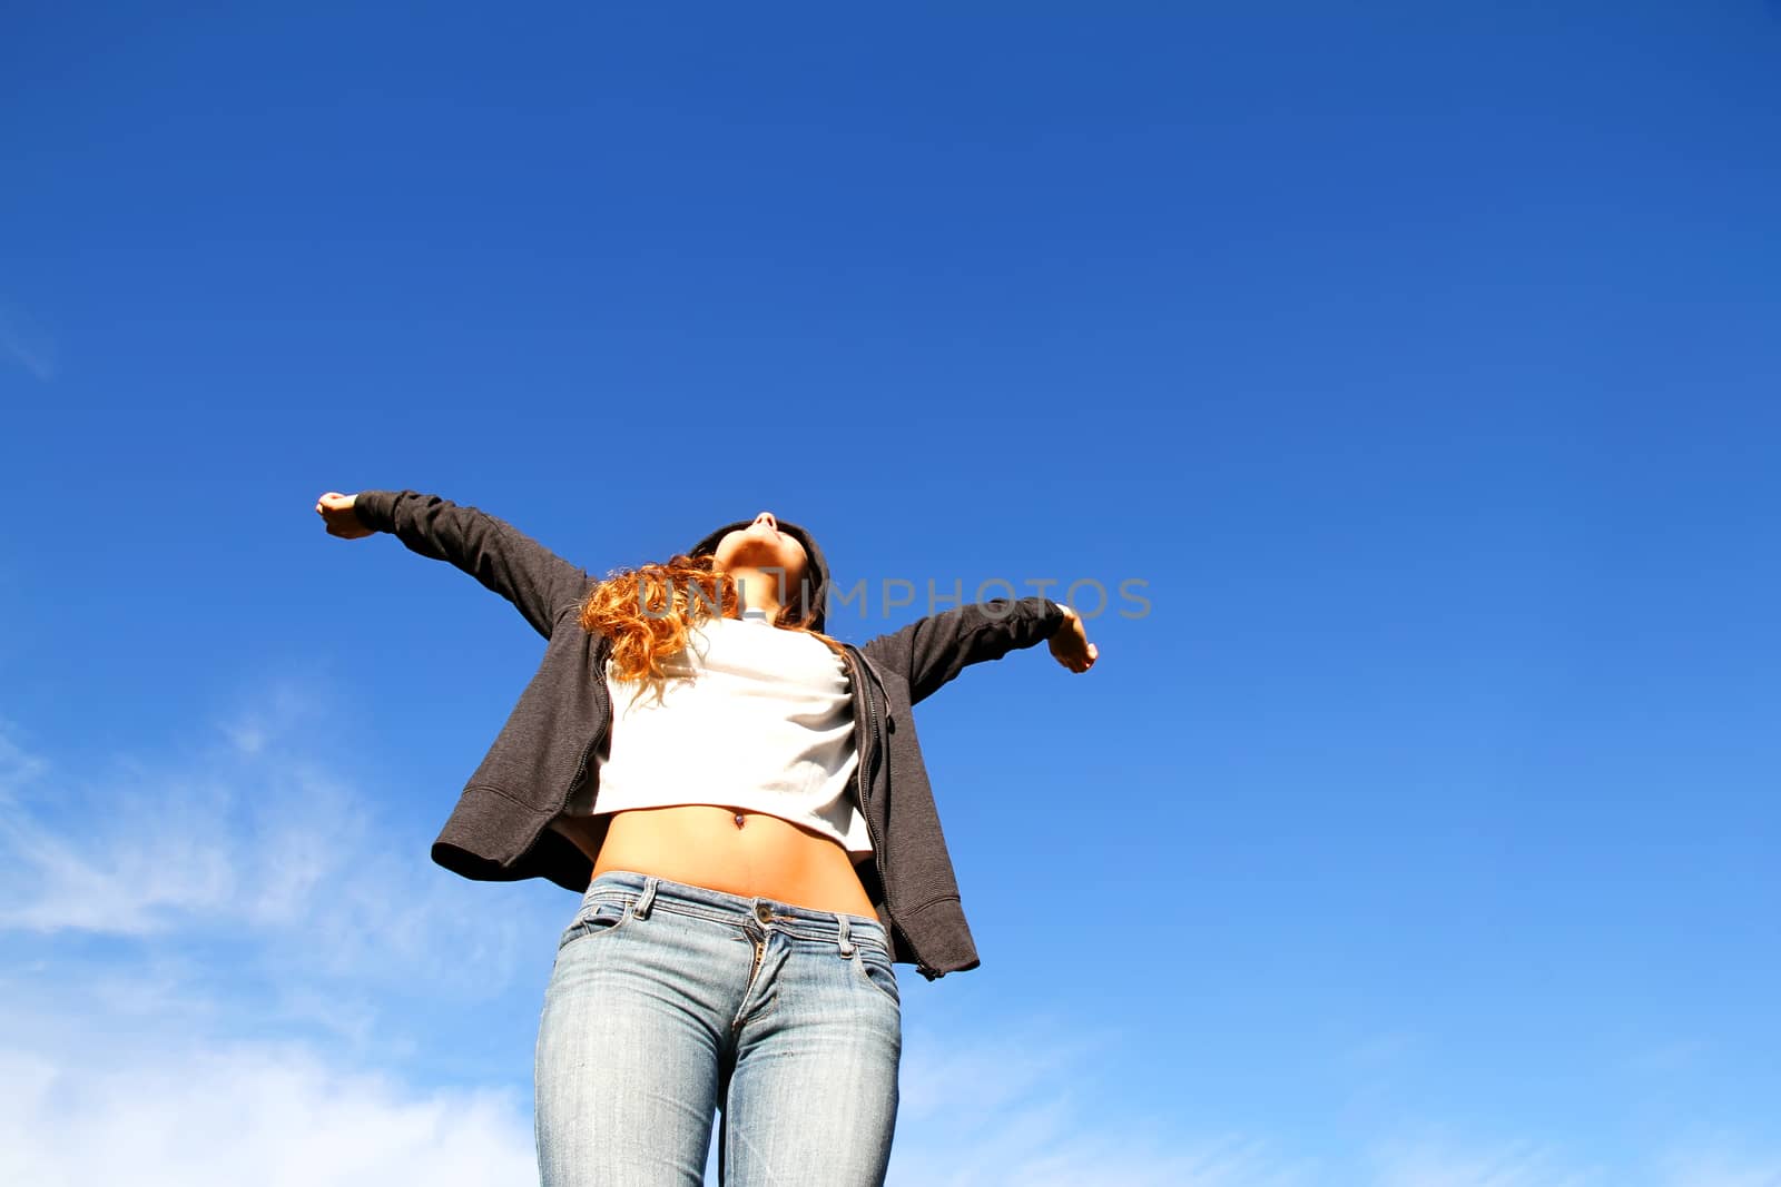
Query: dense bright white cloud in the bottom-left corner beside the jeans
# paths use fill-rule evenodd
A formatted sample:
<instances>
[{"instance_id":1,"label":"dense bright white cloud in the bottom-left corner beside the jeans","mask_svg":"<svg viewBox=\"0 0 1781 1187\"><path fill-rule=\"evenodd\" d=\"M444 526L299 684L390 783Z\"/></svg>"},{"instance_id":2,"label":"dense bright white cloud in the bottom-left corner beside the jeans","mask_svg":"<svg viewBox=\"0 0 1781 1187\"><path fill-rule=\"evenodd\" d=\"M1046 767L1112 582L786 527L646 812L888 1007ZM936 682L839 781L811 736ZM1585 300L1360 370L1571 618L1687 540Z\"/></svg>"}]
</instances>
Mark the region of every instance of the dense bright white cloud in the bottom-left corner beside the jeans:
<instances>
[{"instance_id":1,"label":"dense bright white cloud in the bottom-left corner beside the jeans","mask_svg":"<svg viewBox=\"0 0 1781 1187\"><path fill-rule=\"evenodd\" d=\"M0 1050L0 1182L32 1187L486 1187L536 1182L531 1102L415 1089L303 1045L160 1062Z\"/></svg>"}]
</instances>

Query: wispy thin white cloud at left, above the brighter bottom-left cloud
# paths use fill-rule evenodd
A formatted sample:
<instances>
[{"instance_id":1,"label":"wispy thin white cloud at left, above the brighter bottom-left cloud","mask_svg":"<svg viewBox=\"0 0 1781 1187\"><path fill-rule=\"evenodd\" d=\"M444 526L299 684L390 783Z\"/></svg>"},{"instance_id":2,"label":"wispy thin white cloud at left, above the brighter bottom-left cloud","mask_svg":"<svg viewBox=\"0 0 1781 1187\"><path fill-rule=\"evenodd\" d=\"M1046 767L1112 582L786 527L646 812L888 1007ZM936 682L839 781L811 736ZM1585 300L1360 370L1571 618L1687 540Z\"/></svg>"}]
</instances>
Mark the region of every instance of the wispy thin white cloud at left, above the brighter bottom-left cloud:
<instances>
[{"instance_id":1,"label":"wispy thin white cloud at left, above the brighter bottom-left cloud","mask_svg":"<svg viewBox=\"0 0 1781 1187\"><path fill-rule=\"evenodd\" d=\"M299 968L294 989L424 982L486 998L549 968L566 892L531 888L515 909L524 890L440 870L435 822L392 833L374 788L317 762L303 701L269 699L187 753L78 772L0 724L0 933L219 940Z\"/></svg>"}]
</instances>

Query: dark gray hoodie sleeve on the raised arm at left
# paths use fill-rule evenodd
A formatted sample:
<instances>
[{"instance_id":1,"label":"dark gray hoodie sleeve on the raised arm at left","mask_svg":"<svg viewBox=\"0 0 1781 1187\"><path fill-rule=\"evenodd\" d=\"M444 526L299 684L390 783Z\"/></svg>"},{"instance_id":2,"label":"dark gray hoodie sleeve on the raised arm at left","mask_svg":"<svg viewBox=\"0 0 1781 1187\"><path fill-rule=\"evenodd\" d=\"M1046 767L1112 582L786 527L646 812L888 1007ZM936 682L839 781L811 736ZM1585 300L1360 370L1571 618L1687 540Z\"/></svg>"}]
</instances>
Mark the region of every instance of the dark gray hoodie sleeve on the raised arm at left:
<instances>
[{"instance_id":1,"label":"dark gray hoodie sleeve on the raised arm at left","mask_svg":"<svg viewBox=\"0 0 1781 1187\"><path fill-rule=\"evenodd\" d=\"M588 573L506 520L420 491L360 491L358 521L390 532L410 552L449 561L511 602L545 639L557 618L586 596Z\"/></svg>"}]
</instances>

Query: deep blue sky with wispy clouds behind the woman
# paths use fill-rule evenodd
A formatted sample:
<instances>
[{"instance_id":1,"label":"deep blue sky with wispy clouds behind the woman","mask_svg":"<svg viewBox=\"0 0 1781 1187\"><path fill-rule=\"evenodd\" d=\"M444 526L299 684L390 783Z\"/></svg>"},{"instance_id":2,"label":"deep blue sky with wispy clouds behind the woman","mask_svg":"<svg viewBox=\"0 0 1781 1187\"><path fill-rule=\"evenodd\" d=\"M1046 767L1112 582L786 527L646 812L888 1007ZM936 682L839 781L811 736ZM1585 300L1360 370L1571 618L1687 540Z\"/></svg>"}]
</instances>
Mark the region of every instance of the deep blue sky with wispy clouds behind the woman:
<instances>
[{"instance_id":1,"label":"deep blue sky with wispy clouds behind the woman","mask_svg":"<svg viewBox=\"0 0 1781 1187\"><path fill-rule=\"evenodd\" d=\"M0 1178L533 1175L413 488L1079 582L894 1183L1781 1183L1781 7L374 7L0 16Z\"/></svg>"}]
</instances>

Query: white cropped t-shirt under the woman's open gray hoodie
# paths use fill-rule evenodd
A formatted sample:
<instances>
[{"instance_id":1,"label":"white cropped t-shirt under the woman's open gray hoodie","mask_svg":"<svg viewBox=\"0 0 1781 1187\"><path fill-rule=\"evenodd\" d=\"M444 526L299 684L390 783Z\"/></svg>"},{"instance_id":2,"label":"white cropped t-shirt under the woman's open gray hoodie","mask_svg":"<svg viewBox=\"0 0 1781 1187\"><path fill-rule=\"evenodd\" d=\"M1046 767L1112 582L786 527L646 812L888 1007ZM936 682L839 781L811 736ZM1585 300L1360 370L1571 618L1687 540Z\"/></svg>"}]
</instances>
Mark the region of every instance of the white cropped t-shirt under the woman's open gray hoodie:
<instances>
[{"instance_id":1,"label":"white cropped t-shirt under the woman's open gray hoodie","mask_svg":"<svg viewBox=\"0 0 1781 1187\"><path fill-rule=\"evenodd\" d=\"M597 753L598 797L566 815L721 804L832 836L853 860L873 851L853 795L858 749L844 660L821 639L773 626L766 614L711 618L663 657L661 696L613 678L611 746ZM581 795L593 787L582 783ZM573 822L557 826L573 836Z\"/></svg>"}]
</instances>

